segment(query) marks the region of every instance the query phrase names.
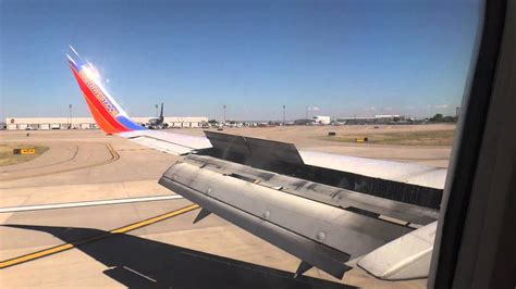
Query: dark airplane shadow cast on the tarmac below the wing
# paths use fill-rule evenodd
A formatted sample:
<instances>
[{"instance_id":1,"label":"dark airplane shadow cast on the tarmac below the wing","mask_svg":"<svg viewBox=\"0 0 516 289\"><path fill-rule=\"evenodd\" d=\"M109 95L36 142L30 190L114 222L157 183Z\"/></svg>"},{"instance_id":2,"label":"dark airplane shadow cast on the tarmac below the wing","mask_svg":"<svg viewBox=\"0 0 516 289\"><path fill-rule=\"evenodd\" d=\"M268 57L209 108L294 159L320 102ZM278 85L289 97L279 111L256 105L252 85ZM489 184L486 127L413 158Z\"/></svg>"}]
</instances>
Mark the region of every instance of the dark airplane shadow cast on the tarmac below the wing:
<instances>
[{"instance_id":1,"label":"dark airplane shadow cast on the tarmac below the wing","mask_svg":"<svg viewBox=\"0 0 516 289\"><path fill-rule=\"evenodd\" d=\"M298 276L200 251L125 234L106 236L90 228L3 225L44 231L110 267L103 273L128 288L355 288L337 282ZM37 261L36 261L37 262ZM59 268L58 268L59 269Z\"/></svg>"}]
</instances>

